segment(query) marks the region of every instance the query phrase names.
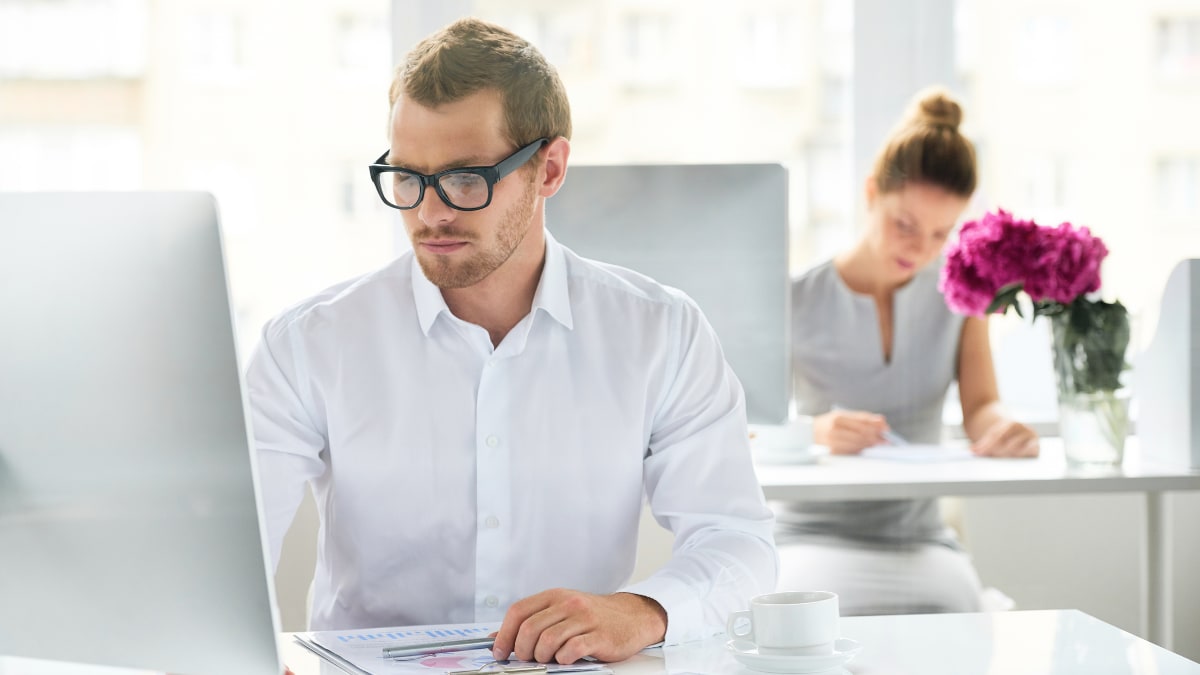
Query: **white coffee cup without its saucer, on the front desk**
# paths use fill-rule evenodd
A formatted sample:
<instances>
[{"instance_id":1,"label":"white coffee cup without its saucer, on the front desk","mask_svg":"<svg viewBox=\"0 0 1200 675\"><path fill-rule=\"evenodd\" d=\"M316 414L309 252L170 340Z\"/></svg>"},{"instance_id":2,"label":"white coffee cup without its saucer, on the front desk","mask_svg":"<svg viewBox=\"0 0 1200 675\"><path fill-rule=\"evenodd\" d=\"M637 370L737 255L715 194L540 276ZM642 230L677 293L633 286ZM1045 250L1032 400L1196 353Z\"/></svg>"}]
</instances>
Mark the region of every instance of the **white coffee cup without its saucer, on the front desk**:
<instances>
[{"instance_id":1,"label":"white coffee cup without its saucer, on the front desk","mask_svg":"<svg viewBox=\"0 0 1200 675\"><path fill-rule=\"evenodd\" d=\"M734 631L746 619L750 629ZM750 598L750 609L734 611L725 625L730 638L749 640L761 655L822 656L838 640L838 593L782 591Z\"/></svg>"}]
</instances>

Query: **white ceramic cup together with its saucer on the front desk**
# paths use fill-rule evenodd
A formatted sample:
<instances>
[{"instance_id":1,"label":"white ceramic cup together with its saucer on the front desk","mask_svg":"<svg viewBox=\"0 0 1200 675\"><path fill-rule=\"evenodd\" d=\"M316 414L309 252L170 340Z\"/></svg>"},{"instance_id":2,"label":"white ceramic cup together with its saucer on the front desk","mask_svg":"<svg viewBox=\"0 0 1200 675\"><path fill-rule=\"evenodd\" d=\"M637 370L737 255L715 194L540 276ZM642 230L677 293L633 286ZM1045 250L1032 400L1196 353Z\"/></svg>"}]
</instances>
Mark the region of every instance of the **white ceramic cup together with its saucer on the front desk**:
<instances>
[{"instance_id":1,"label":"white ceramic cup together with its saucer on the front desk","mask_svg":"<svg viewBox=\"0 0 1200 675\"><path fill-rule=\"evenodd\" d=\"M838 614L829 591L755 596L749 610L730 615L725 649L751 670L840 675L860 645L838 637Z\"/></svg>"}]
</instances>

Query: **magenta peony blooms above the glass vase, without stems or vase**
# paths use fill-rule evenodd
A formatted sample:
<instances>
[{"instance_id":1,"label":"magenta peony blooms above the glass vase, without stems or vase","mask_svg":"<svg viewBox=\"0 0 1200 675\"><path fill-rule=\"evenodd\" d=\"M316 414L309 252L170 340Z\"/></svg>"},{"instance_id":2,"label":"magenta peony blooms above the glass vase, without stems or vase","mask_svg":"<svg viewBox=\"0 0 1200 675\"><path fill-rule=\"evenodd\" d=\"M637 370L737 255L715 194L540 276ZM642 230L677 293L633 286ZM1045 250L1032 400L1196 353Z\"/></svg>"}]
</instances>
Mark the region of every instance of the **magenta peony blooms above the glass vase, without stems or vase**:
<instances>
[{"instance_id":1,"label":"magenta peony blooms above the glass vase, without stems or vase","mask_svg":"<svg viewBox=\"0 0 1200 675\"><path fill-rule=\"evenodd\" d=\"M1036 303L1067 305L1100 287L1108 252L1086 227L1043 227L1000 209L964 223L938 288L952 310L971 316L983 316L998 293L1014 287Z\"/></svg>"}]
</instances>

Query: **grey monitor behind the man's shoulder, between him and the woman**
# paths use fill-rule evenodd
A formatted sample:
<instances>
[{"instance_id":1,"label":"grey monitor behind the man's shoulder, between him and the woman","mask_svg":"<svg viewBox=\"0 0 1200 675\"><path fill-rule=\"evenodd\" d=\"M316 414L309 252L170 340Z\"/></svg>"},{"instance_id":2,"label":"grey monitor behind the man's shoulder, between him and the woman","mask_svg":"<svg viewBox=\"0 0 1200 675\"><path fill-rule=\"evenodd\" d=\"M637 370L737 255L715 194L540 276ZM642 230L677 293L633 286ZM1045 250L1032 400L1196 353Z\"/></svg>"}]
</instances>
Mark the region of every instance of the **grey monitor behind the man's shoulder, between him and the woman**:
<instances>
[{"instance_id":1,"label":"grey monitor behind the man's shoulder, between him and the woman","mask_svg":"<svg viewBox=\"0 0 1200 675\"><path fill-rule=\"evenodd\" d=\"M581 256L688 293L716 331L752 424L791 394L787 172L780 165L572 166L546 227Z\"/></svg>"}]
</instances>

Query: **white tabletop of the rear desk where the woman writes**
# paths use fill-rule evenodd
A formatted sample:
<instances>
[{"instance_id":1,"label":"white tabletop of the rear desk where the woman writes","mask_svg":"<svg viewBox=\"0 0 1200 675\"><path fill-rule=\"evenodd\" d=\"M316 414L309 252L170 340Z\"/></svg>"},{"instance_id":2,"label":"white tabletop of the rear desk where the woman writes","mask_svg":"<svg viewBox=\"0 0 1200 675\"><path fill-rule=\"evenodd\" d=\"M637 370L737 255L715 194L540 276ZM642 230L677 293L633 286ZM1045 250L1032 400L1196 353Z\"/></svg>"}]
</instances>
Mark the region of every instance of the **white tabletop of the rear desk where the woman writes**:
<instances>
[{"instance_id":1,"label":"white tabletop of the rear desk where the woman writes","mask_svg":"<svg viewBox=\"0 0 1200 675\"><path fill-rule=\"evenodd\" d=\"M768 500L787 501L1200 490L1200 471L1144 459L1136 438L1129 438L1117 468L1070 467L1062 442L1044 438L1036 459L904 462L826 455L816 464L758 461L755 471Z\"/></svg>"}]
</instances>

